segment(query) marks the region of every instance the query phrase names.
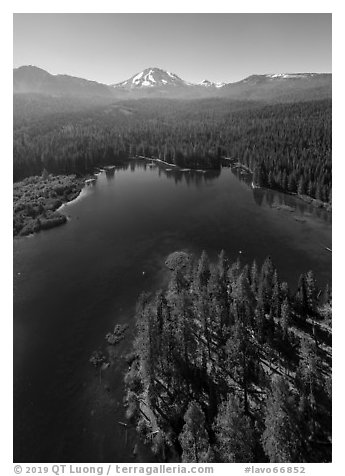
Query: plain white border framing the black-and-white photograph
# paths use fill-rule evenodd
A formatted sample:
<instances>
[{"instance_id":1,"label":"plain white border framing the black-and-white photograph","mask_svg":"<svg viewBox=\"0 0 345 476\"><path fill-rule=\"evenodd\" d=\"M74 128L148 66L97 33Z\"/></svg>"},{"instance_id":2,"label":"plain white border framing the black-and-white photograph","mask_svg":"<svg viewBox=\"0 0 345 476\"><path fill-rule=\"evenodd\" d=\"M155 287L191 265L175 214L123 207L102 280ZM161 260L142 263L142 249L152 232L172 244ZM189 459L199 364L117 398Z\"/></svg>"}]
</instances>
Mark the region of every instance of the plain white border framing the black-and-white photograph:
<instances>
[{"instance_id":1,"label":"plain white border framing the black-and-white photograph","mask_svg":"<svg viewBox=\"0 0 345 476\"><path fill-rule=\"evenodd\" d=\"M260 9L258 8L260 7ZM228 13L333 13L333 214L335 214L333 224L333 294L334 294L334 332L333 332L333 355L334 355L334 371L333 371L333 463L327 465L305 465L307 467L306 474L324 475L328 474L344 474L343 464L343 428L344 428L344 371L342 371L342 352L344 333L345 312L344 303L342 302L342 293L344 293L344 282L340 279L344 273L344 211L342 210L342 182L344 179L345 169L345 153L342 136L344 135L344 70L343 70L343 45L345 29L345 18L341 2L335 1L261 1L261 2L225 2L215 1L204 2L186 2L185 0L176 0L173 2L164 1L141 1L141 2L114 2L100 1L97 2L75 2L61 0L59 2L43 2L43 1L14 1L6 2L1 7L0 15L0 32L1 32L1 92L2 92L2 115L1 115L1 131L2 140L5 147L2 151L2 177L3 181L0 188L2 203L2 220L1 224L1 251L2 251L2 268L1 268L1 362L2 362L2 399L1 399L1 460L0 468L4 471L1 474L14 474L12 464L12 256L13 256L13 240L12 240L12 168L9 167L12 157L12 64L13 64L13 32L12 32L12 13L149 13L149 12L228 12ZM216 465L215 474L243 474L244 465ZM256 467L262 465L255 465ZM6 470L5 470L6 468Z\"/></svg>"}]
</instances>

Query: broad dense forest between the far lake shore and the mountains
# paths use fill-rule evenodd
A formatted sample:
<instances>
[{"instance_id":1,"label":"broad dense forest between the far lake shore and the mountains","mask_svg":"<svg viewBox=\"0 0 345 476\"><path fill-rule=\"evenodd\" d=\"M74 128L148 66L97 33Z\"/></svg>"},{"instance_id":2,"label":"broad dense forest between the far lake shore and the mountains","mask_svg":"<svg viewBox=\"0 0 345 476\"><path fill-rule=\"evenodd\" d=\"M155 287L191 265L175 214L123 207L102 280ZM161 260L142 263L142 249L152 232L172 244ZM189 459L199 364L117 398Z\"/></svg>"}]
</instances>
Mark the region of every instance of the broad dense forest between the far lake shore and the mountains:
<instances>
[{"instance_id":1,"label":"broad dense forest between the far lake shore and the mountains","mask_svg":"<svg viewBox=\"0 0 345 476\"><path fill-rule=\"evenodd\" d=\"M231 157L254 172L258 186L331 202L331 100L265 105L142 99L84 110L58 106L49 109L39 96L15 97L15 181L44 169L83 175L135 155L206 169Z\"/></svg>"}]
</instances>

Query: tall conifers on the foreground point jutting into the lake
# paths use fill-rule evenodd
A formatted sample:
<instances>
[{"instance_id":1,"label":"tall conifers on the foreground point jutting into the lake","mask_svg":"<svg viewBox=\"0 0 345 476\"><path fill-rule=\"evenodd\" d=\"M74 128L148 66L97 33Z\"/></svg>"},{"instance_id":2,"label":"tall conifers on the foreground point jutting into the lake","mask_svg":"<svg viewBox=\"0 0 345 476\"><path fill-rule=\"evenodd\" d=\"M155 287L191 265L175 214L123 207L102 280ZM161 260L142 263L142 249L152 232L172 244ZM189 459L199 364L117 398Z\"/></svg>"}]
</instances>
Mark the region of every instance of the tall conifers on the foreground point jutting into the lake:
<instances>
[{"instance_id":1,"label":"tall conifers on the foreground point jutting into the lake","mask_svg":"<svg viewBox=\"0 0 345 476\"><path fill-rule=\"evenodd\" d=\"M125 377L127 416L159 458L331 461L331 294L259 267L176 252L142 295Z\"/></svg>"}]
</instances>

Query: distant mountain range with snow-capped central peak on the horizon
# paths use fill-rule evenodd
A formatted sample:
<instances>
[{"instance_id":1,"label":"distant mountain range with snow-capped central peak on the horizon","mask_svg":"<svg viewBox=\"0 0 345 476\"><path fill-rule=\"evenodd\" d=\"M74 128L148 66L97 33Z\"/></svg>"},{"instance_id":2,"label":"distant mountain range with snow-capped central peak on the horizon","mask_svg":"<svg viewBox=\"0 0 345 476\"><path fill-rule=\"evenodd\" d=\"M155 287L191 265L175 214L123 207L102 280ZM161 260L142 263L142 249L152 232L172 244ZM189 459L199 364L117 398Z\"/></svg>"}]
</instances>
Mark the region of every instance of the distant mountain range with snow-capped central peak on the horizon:
<instances>
[{"instance_id":1,"label":"distant mountain range with snow-capped central peak on the horizon","mask_svg":"<svg viewBox=\"0 0 345 476\"><path fill-rule=\"evenodd\" d=\"M324 99L332 95L330 73L277 73L252 75L235 83L214 83L205 79L190 83L160 68L147 68L126 81L112 85L52 75L36 66L13 70L14 94L41 94L108 102L113 99L164 97L196 99L221 97L267 102Z\"/></svg>"}]
</instances>

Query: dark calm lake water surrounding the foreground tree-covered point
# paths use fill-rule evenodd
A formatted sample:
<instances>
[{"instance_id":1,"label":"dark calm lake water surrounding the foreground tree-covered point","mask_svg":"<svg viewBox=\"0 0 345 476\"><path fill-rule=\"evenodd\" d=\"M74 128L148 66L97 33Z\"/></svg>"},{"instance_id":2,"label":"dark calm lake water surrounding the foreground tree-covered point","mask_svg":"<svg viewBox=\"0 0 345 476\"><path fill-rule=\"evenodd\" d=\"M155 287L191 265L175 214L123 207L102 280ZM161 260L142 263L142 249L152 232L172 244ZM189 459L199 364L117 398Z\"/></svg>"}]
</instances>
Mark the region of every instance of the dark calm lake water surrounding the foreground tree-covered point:
<instances>
[{"instance_id":1,"label":"dark calm lake water surrounding the foreground tree-covered point","mask_svg":"<svg viewBox=\"0 0 345 476\"><path fill-rule=\"evenodd\" d=\"M136 299L164 286L172 251L206 249L213 258L224 248L259 264L270 255L292 287L309 269L319 284L330 281L330 215L239 178L230 168L167 172L132 162L65 206L67 225L15 240L16 462L152 460L140 445L134 459L135 431L126 437L118 423L126 421L121 356ZM107 352L106 332L125 322L127 338L100 383L89 357Z\"/></svg>"}]
</instances>

